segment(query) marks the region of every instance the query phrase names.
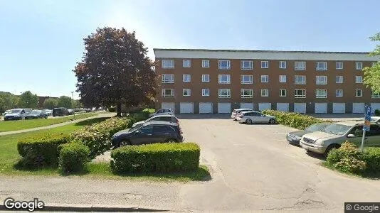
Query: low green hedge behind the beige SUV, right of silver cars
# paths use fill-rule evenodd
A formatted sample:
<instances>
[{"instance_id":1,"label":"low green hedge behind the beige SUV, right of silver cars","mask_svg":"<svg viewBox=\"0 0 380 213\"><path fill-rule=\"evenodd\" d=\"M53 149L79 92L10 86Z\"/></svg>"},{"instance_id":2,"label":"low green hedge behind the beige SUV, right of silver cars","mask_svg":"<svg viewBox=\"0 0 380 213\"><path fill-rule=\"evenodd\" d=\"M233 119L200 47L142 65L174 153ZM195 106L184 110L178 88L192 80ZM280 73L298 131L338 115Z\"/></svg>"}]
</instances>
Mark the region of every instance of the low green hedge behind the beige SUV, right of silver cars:
<instances>
[{"instance_id":1,"label":"low green hedge behind the beige SUV, right of silver cars","mask_svg":"<svg viewBox=\"0 0 380 213\"><path fill-rule=\"evenodd\" d=\"M326 122L322 119L317 119L313 116L307 116L307 115L298 114L295 112L284 112L284 111L275 111L275 110L263 110L261 112L263 114L275 116L278 124L290 126L295 129L305 129L307 128L307 126L310 126L312 124Z\"/></svg>"}]
</instances>

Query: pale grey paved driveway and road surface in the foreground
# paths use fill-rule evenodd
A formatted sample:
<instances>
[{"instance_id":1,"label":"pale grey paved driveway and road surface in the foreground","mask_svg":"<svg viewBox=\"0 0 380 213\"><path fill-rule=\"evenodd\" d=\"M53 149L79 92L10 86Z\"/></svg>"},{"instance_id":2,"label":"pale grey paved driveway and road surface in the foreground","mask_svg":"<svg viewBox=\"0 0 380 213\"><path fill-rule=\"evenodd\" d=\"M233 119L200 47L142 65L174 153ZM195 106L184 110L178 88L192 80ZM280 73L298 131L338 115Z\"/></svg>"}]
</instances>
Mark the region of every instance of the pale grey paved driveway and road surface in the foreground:
<instances>
[{"instance_id":1,"label":"pale grey paved driveway and road surface in the foreground","mask_svg":"<svg viewBox=\"0 0 380 213\"><path fill-rule=\"evenodd\" d=\"M86 178L0 177L0 200L126 204L194 212L343 212L344 202L379 202L380 181L323 168L291 146L280 125L238 124L226 116L179 116L186 141L201 146L213 180L157 183Z\"/></svg>"}]
</instances>

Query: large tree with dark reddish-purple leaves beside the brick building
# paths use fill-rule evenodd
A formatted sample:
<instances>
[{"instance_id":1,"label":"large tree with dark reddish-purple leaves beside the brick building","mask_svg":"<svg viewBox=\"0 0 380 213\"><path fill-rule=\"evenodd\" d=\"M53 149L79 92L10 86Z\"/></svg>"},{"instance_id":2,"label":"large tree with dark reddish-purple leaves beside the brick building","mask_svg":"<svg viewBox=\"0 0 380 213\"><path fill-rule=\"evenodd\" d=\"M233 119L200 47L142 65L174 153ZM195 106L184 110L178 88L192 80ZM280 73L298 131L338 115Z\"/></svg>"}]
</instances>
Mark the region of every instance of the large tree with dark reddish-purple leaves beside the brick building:
<instances>
[{"instance_id":1,"label":"large tree with dark reddish-purple leaves beside the brick building","mask_svg":"<svg viewBox=\"0 0 380 213\"><path fill-rule=\"evenodd\" d=\"M86 107L135 107L154 97L157 75L147 48L124 28L97 28L85 40L83 60L76 65L77 92Z\"/></svg>"}]
</instances>

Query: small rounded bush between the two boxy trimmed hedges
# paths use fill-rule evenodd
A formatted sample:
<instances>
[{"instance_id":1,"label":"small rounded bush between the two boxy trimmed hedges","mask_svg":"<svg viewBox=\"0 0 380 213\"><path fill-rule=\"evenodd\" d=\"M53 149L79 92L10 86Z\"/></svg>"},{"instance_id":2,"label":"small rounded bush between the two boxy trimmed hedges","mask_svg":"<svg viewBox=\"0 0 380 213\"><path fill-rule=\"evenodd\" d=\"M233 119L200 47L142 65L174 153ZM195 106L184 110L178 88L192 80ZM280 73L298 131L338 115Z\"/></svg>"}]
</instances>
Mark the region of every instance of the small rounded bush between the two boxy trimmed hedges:
<instances>
[{"instance_id":1,"label":"small rounded bush between the two boxy trimmed hedges","mask_svg":"<svg viewBox=\"0 0 380 213\"><path fill-rule=\"evenodd\" d=\"M90 149L87 146L78 141L73 141L60 145L59 150L59 167L64 173L84 170L90 154Z\"/></svg>"}]
</instances>

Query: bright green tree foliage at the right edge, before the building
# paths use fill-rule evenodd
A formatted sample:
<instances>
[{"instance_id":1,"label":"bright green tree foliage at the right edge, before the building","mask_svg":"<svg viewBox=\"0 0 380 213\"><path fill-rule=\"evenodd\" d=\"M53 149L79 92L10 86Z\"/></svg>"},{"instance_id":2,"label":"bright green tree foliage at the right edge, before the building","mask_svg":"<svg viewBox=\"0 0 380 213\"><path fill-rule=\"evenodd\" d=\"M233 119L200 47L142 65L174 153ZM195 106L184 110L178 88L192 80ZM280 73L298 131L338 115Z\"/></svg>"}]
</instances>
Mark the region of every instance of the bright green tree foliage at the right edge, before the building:
<instances>
[{"instance_id":1,"label":"bright green tree foliage at the right edge, before the building","mask_svg":"<svg viewBox=\"0 0 380 213\"><path fill-rule=\"evenodd\" d=\"M376 35L369 37L371 41L380 41L380 33L376 33ZM376 45L374 51L369 53L371 56L380 55L380 45ZM372 91L376 93L380 93L380 62L376 62L371 67L364 67L364 80L363 83L366 87L372 89Z\"/></svg>"}]
</instances>

